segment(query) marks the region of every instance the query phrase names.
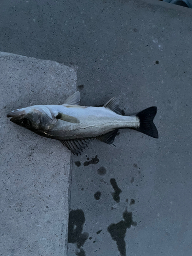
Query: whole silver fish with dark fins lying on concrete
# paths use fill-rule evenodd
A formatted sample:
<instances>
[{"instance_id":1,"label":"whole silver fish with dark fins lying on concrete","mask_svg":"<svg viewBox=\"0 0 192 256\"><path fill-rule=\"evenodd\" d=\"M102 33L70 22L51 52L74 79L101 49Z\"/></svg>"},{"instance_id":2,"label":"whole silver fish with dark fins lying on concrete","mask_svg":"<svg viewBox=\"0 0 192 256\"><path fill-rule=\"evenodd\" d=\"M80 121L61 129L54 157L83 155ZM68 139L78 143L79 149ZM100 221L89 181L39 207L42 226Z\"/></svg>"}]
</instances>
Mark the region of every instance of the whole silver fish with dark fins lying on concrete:
<instances>
[{"instance_id":1,"label":"whole silver fish with dark fins lying on concrete","mask_svg":"<svg viewBox=\"0 0 192 256\"><path fill-rule=\"evenodd\" d=\"M103 106L81 106L77 91L62 105L33 105L7 114L10 121L47 138L60 140L73 154L79 155L96 138L112 144L119 129L134 129L158 138L153 122L157 107L123 116L116 97Z\"/></svg>"}]
</instances>

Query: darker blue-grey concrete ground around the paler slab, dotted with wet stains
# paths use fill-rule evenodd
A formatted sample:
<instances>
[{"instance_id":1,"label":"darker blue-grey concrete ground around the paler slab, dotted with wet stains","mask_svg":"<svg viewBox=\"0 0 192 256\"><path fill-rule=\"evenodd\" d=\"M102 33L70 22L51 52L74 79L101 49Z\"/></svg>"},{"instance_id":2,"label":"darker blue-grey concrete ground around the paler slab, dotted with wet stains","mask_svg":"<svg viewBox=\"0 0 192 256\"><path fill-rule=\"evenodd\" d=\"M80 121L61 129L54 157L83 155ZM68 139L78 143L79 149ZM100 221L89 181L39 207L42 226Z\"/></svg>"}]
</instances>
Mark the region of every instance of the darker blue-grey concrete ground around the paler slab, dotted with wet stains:
<instances>
[{"instance_id":1,"label":"darker blue-grey concrete ground around the paler slab, dotted with wet stains","mask_svg":"<svg viewBox=\"0 0 192 256\"><path fill-rule=\"evenodd\" d=\"M191 12L145 0L2 3L1 50L77 65L82 105L115 95L126 115L158 107L158 140L123 130L115 146L94 141L73 158L69 256L123 255L124 236L126 255L191 255Z\"/></svg>"}]
</instances>

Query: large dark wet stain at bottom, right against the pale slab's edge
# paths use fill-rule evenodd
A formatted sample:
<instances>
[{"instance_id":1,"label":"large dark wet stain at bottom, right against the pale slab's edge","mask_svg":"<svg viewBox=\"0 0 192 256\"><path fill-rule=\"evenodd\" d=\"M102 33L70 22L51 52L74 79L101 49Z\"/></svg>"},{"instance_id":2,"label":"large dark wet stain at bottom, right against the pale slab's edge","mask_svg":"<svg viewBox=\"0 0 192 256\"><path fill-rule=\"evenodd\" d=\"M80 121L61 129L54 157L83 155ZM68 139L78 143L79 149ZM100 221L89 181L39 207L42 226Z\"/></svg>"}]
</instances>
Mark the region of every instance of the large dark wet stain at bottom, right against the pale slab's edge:
<instances>
[{"instance_id":1,"label":"large dark wet stain at bottom, right against the pale slab's edge","mask_svg":"<svg viewBox=\"0 0 192 256\"><path fill-rule=\"evenodd\" d=\"M82 233L83 224L85 221L86 219L84 218L84 212L81 209L70 211L68 226L68 243L76 243L77 248L80 249L80 251L77 252L78 254L76 253L76 255L78 256L86 255L84 253L84 250L80 248L89 237L88 233Z\"/></svg>"}]
</instances>

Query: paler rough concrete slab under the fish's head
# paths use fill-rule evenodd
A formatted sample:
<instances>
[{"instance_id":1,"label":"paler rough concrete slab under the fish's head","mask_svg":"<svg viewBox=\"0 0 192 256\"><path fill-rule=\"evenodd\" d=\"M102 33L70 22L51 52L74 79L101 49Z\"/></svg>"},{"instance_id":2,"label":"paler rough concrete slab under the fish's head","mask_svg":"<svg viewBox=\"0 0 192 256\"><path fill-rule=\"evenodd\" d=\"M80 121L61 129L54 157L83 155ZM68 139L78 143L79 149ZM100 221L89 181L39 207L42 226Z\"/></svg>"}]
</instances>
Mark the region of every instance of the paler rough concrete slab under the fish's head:
<instances>
[{"instance_id":1,"label":"paler rough concrete slab under the fish's head","mask_svg":"<svg viewBox=\"0 0 192 256\"><path fill-rule=\"evenodd\" d=\"M76 69L0 53L0 255L66 255L71 153L59 141L12 123L6 114L60 104L76 91Z\"/></svg>"}]
</instances>

